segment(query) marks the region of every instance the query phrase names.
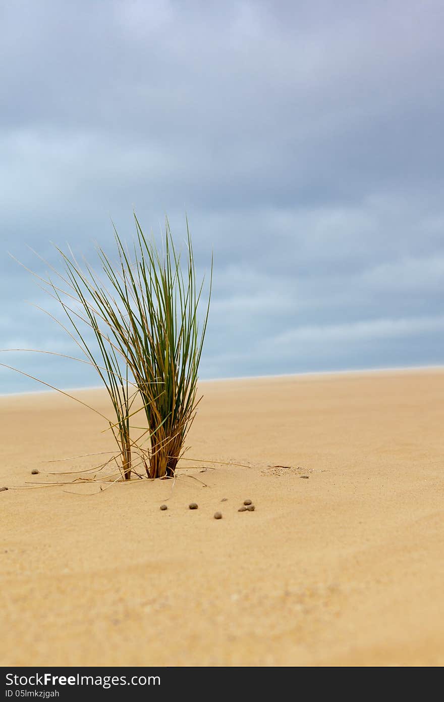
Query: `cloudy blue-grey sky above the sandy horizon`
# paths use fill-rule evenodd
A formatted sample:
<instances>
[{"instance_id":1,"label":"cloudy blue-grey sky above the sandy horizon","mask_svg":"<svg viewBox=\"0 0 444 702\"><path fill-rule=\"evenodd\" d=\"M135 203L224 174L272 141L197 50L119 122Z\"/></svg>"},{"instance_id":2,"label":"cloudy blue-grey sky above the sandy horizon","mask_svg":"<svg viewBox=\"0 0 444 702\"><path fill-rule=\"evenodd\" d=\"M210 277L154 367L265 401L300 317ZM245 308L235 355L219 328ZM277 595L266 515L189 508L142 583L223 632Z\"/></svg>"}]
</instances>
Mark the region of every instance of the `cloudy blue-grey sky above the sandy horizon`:
<instances>
[{"instance_id":1,"label":"cloudy blue-grey sky above the sandy horizon","mask_svg":"<svg viewBox=\"0 0 444 702\"><path fill-rule=\"evenodd\" d=\"M179 245L187 214L207 281L213 252L201 378L443 364L443 26L441 0L0 0L0 347L75 352L11 255L93 261L135 210Z\"/></svg>"}]
</instances>

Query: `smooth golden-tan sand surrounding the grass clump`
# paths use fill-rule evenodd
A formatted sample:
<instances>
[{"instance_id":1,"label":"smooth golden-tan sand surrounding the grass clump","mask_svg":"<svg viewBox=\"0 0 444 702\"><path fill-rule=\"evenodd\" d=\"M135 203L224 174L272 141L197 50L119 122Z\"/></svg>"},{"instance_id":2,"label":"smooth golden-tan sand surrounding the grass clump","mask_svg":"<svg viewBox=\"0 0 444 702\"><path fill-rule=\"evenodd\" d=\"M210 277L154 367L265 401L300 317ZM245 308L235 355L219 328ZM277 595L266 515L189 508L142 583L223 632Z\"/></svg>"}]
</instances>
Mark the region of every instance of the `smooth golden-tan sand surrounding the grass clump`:
<instances>
[{"instance_id":1,"label":"smooth golden-tan sand surrounding the grass clump","mask_svg":"<svg viewBox=\"0 0 444 702\"><path fill-rule=\"evenodd\" d=\"M174 484L99 493L48 461L112 449L100 417L0 398L1 665L443 665L444 369L200 389Z\"/></svg>"}]
</instances>

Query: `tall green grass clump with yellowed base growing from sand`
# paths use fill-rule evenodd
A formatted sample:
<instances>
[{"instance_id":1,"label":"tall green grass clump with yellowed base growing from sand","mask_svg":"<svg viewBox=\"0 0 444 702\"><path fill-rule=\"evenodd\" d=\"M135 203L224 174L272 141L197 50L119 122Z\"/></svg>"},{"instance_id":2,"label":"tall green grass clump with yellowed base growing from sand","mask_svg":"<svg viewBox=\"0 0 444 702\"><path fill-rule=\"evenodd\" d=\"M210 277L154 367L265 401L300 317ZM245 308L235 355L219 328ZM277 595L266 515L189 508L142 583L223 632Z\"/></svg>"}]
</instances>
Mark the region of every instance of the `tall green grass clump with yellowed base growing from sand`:
<instances>
[{"instance_id":1,"label":"tall green grass clump with yellowed base growing from sand","mask_svg":"<svg viewBox=\"0 0 444 702\"><path fill-rule=\"evenodd\" d=\"M208 301L199 322L203 281L196 284L188 221L182 260L168 219L159 249L134 217L131 249L114 227L117 263L98 248L97 272L86 262L80 264L70 249L69 254L57 249L65 270L51 267L55 277L39 277L70 324L50 316L80 347L107 389L114 409L109 428L126 480L132 471L142 477L141 467L151 479L175 475L201 399L197 380L213 277L212 261ZM143 427L131 421L140 413Z\"/></svg>"}]
</instances>

